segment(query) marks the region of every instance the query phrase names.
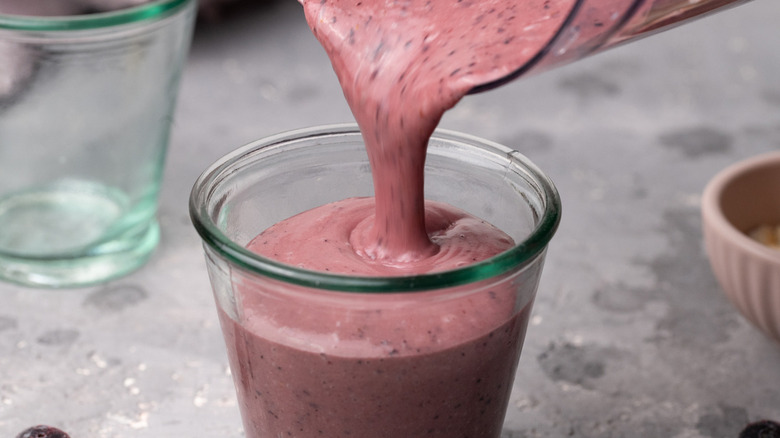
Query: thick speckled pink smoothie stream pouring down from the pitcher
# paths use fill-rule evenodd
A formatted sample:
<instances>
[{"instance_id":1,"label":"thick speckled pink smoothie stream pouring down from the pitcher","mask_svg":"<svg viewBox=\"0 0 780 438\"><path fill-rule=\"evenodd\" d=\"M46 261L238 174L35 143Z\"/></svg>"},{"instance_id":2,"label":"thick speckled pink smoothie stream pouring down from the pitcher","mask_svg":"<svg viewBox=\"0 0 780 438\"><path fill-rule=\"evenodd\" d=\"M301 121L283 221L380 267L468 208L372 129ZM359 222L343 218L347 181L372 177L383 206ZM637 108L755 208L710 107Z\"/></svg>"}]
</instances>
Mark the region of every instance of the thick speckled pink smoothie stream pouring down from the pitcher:
<instances>
[{"instance_id":1,"label":"thick speckled pink smoothie stream pouring down from the pitcher","mask_svg":"<svg viewBox=\"0 0 780 438\"><path fill-rule=\"evenodd\" d=\"M371 164L375 215L350 240L359 255L402 265L439 251L425 225L428 139L444 112L472 87L505 76L535 55L571 3L303 1Z\"/></svg>"}]
</instances>

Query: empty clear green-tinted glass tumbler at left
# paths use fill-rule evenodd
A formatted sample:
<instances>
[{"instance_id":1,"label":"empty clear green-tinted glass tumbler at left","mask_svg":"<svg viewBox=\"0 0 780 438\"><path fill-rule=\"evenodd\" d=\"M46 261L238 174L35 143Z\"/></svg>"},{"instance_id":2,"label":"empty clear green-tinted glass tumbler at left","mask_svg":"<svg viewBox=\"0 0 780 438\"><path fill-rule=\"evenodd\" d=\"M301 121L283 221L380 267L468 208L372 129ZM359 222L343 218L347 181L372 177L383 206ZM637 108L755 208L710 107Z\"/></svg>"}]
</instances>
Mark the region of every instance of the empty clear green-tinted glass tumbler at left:
<instances>
[{"instance_id":1,"label":"empty clear green-tinted glass tumbler at left","mask_svg":"<svg viewBox=\"0 0 780 438\"><path fill-rule=\"evenodd\" d=\"M0 278L83 286L148 259L195 3L0 2Z\"/></svg>"}]
</instances>

